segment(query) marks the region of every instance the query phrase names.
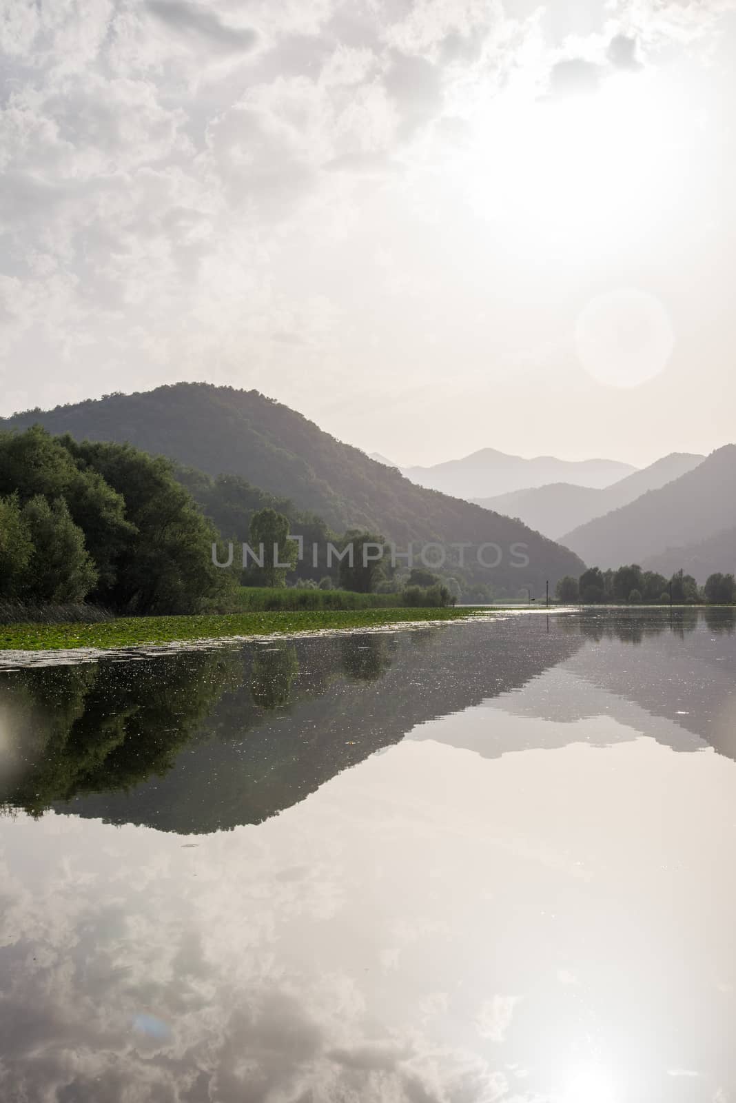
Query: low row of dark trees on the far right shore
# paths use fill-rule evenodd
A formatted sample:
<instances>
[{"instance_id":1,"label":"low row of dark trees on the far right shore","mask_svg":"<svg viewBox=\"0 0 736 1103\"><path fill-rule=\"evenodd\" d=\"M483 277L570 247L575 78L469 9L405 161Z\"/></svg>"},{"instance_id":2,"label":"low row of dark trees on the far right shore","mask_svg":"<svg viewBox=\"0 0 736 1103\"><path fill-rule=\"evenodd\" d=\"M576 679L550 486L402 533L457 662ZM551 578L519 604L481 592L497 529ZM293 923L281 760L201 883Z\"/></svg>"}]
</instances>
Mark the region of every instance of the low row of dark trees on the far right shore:
<instances>
[{"instance_id":1,"label":"low row of dark trees on the far right shore","mask_svg":"<svg viewBox=\"0 0 736 1103\"><path fill-rule=\"evenodd\" d=\"M571 575L560 579L555 595L564 604L605 604L626 601L630 604L733 604L736 601L736 579L732 574L711 575L700 587L692 575L683 570L665 578L654 570L642 570L638 564L602 570L589 567L580 578Z\"/></svg>"}]
</instances>

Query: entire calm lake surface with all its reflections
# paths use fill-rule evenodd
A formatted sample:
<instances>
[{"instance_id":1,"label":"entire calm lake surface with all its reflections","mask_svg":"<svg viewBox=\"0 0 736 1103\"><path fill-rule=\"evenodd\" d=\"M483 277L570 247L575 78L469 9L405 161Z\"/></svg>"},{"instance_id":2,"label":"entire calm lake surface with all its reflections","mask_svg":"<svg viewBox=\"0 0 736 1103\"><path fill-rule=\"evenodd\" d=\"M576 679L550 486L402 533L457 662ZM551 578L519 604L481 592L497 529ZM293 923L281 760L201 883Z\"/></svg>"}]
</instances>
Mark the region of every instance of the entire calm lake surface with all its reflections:
<instances>
[{"instance_id":1,"label":"entire calm lake surface with all its reflections","mask_svg":"<svg viewBox=\"0 0 736 1103\"><path fill-rule=\"evenodd\" d=\"M736 1103L733 612L0 673L0 1099Z\"/></svg>"}]
</instances>

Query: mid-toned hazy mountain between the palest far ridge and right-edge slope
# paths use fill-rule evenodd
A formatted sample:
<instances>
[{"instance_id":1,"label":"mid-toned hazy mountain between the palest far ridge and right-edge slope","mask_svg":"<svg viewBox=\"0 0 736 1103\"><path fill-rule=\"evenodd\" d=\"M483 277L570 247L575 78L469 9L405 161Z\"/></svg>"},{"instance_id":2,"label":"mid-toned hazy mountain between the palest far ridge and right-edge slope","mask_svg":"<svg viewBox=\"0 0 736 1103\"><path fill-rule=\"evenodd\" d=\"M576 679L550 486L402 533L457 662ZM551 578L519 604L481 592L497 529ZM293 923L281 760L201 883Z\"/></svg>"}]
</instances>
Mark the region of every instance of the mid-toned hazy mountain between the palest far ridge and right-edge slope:
<instances>
[{"instance_id":1,"label":"mid-toned hazy mountain between the palest far ridge and right-edge slope","mask_svg":"<svg viewBox=\"0 0 736 1103\"><path fill-rule=\"evenodd\" d=\"M575 486L572 483L551 483L548 486L534 486L475 501L486 510L519 517L530 528L559 539L563 533L569 533L594 517L602 517L611 510L619 510L649 490L659 490L673 479L692 471L704 459L703 456L672 452L602 490Z\"/></svg>"}]
</instances>

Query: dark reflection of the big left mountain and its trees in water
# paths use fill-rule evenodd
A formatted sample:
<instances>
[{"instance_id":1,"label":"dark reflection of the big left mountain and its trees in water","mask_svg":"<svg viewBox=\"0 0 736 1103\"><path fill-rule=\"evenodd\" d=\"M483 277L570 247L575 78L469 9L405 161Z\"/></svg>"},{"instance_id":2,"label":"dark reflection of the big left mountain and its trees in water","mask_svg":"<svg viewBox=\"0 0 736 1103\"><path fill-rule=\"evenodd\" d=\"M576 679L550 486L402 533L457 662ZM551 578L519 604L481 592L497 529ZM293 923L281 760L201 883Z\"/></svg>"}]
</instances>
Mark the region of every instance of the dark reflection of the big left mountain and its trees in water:
<instances>
[{"instance_id":1,"label":"dark reflection of the big left mountain and its trees in water","mask_svg":"<svg viewBox=\"0 0 736 1103\"><path fill-rule=\"evenodd\" d=\"M1 797L183 833L259 823L582 644L534 619L13 671Z\"/></svg>"}]
</instances>

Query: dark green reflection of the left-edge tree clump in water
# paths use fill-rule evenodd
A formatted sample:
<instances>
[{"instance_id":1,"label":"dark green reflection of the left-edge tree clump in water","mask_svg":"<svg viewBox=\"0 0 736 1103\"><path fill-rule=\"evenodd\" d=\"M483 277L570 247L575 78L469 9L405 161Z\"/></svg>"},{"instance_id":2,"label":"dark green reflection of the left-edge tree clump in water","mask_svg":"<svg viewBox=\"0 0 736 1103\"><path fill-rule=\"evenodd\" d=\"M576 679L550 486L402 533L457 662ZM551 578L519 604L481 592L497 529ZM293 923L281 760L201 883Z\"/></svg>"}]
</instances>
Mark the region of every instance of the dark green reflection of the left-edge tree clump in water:
<instances>
[{"instance_id":1,"label":"dark green reflection of the left-edge tree clump in water","mask_svg":"<svg viewBox=\"0 0 736 1103\"><path fill-rule=\"evenodd\" d=\"M40 815L78 793L127 790L164 774L231 682L235 656L166 656L7 675L10 763L0 803Z\"/></svg>"}]
</instances>

